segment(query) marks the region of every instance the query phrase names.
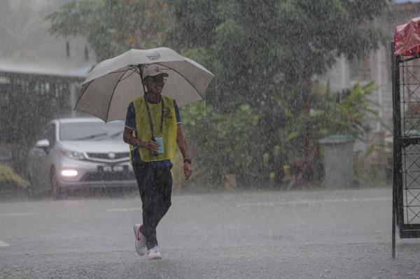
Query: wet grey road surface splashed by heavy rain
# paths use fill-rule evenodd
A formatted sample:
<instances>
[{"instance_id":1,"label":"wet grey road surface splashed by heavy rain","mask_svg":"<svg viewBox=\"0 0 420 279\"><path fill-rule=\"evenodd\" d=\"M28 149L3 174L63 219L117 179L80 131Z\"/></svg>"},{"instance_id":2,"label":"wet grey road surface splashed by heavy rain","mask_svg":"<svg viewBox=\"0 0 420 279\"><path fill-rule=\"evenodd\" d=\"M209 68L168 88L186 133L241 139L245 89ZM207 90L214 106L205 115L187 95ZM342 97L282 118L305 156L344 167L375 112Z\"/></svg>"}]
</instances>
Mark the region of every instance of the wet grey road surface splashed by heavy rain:
<instances>
[{"instance_id":1,"label":"wet grey road surface splashed by heavy rain","mask_svg":"<svg viewBox=\"0 0 420 279\"><path fill-rule=\"evenodd\" d=\"M148 261L135 192L2 201L0 278L420 278L420 239L391 259L391 208L391 189L174 195Z\"/></svg>"}]
</instances>

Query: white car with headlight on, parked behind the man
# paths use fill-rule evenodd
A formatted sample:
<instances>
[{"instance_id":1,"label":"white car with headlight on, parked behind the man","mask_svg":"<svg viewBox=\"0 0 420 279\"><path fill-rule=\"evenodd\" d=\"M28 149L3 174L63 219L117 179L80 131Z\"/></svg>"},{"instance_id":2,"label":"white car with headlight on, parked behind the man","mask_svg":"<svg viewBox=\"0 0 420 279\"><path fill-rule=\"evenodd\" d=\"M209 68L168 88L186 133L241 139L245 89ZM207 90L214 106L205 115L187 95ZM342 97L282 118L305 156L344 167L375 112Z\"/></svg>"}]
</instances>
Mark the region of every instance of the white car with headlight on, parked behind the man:
<instances>
[{"instance_id":1,"label":"white car with headlight on, parked behind the man","mask_svg":"<svg viewBox=\"0 0 420 279\"><path fill-rule=\"evenodd\" d=\"M137 187L123 142L123 121L96 118L50 121L29 151L28 173L35 195L93 187Z\"/></svg>"}]
</instances>

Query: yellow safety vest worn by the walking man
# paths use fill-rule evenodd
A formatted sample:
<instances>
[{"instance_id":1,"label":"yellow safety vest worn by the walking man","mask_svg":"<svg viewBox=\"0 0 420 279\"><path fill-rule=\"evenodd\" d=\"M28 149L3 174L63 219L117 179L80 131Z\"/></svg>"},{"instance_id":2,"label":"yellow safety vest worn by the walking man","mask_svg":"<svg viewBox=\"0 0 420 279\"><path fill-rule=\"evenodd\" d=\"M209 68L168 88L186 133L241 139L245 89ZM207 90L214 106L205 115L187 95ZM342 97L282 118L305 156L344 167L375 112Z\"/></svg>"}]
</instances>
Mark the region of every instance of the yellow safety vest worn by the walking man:
<instances>
[{"instance_id":1,"label":"yellow safety vest worn by the walking man","mask_svg":"<svg viewBox=\"0 0 420 279\"><path fill-rule=\"evenodd\" d=\"M144 162L155 162L173 159L176 152L177 124L174 108L174 99L162 96L164 101L162 134L159 134L162 103L148 103L153 121L153 135L163 138L163 153L153 155L151 150L139 148L141 160ZM140 141L151 141L151 125L148 120L146 101L143 96L133 100L136 112L136 136ZM131 152L130 152L131 153ZM131 155L131 154L130 154ZM131 157L131 156L130 156Z\"/></svg>"}]
</instances>

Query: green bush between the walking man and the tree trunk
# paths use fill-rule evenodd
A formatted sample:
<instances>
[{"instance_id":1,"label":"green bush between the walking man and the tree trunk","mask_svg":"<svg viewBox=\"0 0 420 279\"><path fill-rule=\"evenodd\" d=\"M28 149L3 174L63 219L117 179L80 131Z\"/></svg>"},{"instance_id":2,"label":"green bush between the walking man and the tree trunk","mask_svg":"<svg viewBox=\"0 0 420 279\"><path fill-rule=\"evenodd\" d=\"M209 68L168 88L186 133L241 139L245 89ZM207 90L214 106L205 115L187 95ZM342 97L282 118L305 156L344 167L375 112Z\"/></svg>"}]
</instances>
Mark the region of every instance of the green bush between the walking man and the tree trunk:
<instances>
[{"instance_id":1,"label":"green bush between the walking man and the tree trunk","mask_svg":"<svg viewBox=\"0 0 420 279\"><path fill-rule=\"evenodd\" d=\"M221 187L227 173L244 179L258 175L260 115L254 108L242 104L231 113L216 113L200 102L182 108L181 114L194 160L194 184Z\"/></svg>"}]
</instances>

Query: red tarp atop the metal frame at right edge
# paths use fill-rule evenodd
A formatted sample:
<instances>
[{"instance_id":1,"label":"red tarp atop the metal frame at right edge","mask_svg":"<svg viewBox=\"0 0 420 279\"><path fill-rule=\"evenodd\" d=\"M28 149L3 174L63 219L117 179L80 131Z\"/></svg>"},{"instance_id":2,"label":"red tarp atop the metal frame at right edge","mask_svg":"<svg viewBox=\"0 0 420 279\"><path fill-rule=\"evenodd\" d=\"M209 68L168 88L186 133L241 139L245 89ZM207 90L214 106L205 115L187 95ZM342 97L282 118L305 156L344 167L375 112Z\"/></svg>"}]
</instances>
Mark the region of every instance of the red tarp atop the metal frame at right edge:
<instances>
[{"instance_id":1,"label":"red tarp atop the metal frame at right edge","mask_svg":"<svg viewBox=\"0 0 420 279\"><path fill-rule=\"evenodd\" d=\"M395 28L394 55L414 56L420 54L420 17Z\"/></svg>"}]
</instances>

